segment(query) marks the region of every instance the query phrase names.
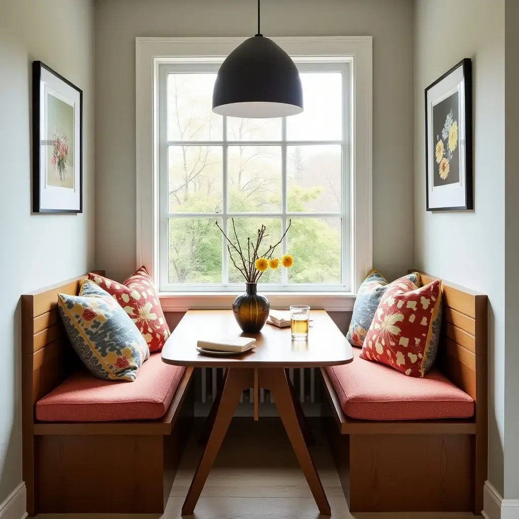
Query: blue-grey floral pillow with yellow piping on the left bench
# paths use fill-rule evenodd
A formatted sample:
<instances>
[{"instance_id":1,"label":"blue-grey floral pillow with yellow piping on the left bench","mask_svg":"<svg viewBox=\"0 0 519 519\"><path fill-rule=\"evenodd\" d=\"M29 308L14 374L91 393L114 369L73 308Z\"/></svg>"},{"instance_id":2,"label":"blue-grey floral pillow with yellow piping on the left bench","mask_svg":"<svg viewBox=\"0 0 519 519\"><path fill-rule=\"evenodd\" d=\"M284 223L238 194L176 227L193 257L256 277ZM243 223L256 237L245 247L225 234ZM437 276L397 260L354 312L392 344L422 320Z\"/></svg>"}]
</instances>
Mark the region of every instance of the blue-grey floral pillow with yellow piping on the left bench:
<instances>
[{"instance_id":1,"label":"blue-grey floral pillow with yellow piping on the left bench","mask_svg":"<svg viewBox=\"0 0 519 519\"><path fill-rule=\"evenodd\" d=\"M72 347L94 376L135 380L148 345L110 294L86 279L79 295L58 294L58 309Z\"/></svg>"}]
</instances>

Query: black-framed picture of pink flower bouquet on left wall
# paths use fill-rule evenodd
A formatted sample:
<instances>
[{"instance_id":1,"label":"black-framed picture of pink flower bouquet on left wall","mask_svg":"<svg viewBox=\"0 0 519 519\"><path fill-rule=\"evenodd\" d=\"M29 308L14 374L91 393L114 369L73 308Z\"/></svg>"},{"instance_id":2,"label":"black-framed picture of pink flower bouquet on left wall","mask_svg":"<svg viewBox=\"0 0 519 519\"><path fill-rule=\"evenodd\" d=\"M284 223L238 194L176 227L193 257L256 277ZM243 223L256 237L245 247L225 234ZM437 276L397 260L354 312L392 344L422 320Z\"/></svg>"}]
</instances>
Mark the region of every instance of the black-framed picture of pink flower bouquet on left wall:
<instances>
[{"instance_id":1,"label":"black-framed picture of pink flower bouquet on left wall","mask_svg":"<svg viewBox=\"0 0 519 519\"><path fill-rule=\"evenodd\" d=\"M83 91L33 61L33 212L83 212Z\"/></svg>"}]
</instances>

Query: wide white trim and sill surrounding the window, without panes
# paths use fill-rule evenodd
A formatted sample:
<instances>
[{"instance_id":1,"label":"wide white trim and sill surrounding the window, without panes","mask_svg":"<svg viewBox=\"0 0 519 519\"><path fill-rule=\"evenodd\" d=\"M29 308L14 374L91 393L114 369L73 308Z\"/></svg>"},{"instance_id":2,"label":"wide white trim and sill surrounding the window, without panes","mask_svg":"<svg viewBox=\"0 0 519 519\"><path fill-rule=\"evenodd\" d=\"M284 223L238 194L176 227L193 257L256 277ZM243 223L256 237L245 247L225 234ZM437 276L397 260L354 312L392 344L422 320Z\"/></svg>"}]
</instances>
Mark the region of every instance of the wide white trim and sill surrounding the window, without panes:
<instances>
[{"instance_id":1,"label":"wide white trim and sill surrounding the window, without panes","mask_svg":"<svg viewBox=\"0 0 519 519\"><path fill-rule=\"evenodd\" d=\"M158 286L158 154L157 71L172 57L186 62L194 57L215 62L227 56L245 37L135 38L136 94L136 235L137 267L144 265ZM350 203L351 292L272 292L272 307L308 303L327 310L351 310L360 284L373 262L372 156L373 156L373 45L371 36L274 37L294 57L326 57L351 61ZM165 311L229 307L238 292L161 293Z\"/></svg>"}]
</instances>

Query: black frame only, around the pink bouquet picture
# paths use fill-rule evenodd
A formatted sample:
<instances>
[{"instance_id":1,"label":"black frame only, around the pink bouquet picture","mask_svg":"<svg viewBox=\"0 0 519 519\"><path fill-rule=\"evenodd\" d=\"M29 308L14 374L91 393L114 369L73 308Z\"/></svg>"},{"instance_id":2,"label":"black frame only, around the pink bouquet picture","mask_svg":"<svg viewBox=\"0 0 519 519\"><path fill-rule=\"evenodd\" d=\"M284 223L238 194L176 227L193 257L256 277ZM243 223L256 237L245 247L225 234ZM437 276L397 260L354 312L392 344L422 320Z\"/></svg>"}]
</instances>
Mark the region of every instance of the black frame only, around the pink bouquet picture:
<instances>
[{"instance_id":1,"label":"black frame only, around the pink bouquet picture","mask_svg":"<svg viewBox=\"0 0 519 519\"><path fill-rule=\"evenodd\" d=\"M42 117L41 108L44 99L42 99L42 76L44 74L51 74L56 78L56 83L60 82L64 85L72 87L79 95L79 129L77 128L76 112L74 111L74 143L76 143L77 135L79 134L79 158L76 156L76 148L74 148L74 192L76 190L76 182L78 184L78 194L75 196L74 207L49 207L49 203L44 203L42 197L42 189L46 186L42 185ZM55 141L54 141L55 142ZM47 142L48 144L48 142ZM45 165L44 167L46 167ZM78 171L76 170L78 169ZM57 196L59 198L59 195ZM76 203L77 202L77 203ZM59 205L59 204L57 204ZM70 204L69 204L70 206ZM52 70L42 61L32 62L32 211L33 213L83 213L83 90L71 83L68 79Z\"/></svg>"}]
</instances>

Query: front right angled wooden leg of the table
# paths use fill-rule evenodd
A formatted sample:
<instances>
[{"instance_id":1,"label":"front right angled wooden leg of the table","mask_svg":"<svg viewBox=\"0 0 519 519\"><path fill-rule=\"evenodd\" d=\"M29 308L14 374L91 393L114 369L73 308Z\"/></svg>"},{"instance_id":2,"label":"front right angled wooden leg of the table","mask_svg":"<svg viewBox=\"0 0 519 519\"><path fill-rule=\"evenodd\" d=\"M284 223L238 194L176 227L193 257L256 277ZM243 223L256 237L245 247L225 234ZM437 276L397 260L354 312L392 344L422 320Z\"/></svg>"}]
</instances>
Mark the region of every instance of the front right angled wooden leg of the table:
<instances>
[{"instance_id":1,"label":"front right angled wooden leg of the table","mask_svg":"<svg viewBox=\"0 0 519 519\"><path fill-rule=\"evenodd\" d=\"M330 504L324 494L324 489L319 479L315 465L308 452L308 448L297 419L294 402L290 391L290 381L283 369L260 370L260 386L269 389L274 394L274 403L278 409L279 416L283 422L286 433L294 453L303 469L306 481L310 487L313 498L316 500L317 508L322 515L332 515Z\"/></svg>"}]
</instances>

